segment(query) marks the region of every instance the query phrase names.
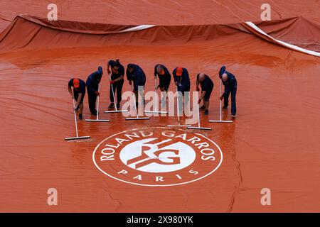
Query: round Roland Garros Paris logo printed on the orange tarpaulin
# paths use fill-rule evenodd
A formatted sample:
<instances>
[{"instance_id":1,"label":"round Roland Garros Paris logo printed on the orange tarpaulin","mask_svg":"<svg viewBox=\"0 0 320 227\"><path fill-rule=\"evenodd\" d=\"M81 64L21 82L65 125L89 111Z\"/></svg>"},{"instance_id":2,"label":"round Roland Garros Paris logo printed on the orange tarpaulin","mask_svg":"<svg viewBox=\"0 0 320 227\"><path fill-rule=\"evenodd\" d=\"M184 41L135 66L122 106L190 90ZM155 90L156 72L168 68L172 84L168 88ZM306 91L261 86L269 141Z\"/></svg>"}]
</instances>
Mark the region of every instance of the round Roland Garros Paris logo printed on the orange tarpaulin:
<instances>
[{"instance_id":1,"label":"round Roland Garros Paris logo printed on the orange tarpaulin","mask_svg":"<svg viewBox=\"0 0 320 227\"><path fill-rule=\"evenodd\" d=\"M129 184L188 184L218 170L223 153L205 136L173 128L137 128L103 140L92 155L105 175Z\"/></svg>"}]
</instances>

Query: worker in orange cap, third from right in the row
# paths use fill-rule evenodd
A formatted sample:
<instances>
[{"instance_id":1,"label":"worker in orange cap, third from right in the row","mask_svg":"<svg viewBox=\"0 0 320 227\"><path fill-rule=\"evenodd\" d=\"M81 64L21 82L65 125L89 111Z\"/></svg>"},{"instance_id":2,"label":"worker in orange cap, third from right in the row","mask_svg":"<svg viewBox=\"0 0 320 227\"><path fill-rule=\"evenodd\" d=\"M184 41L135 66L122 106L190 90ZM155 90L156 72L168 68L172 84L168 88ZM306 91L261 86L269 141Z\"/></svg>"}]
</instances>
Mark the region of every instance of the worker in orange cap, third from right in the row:
<instances>
[{"instance_id":1,"label":"worker in orange cap, third from right in the row","mask_svg":"<svg viewBox=\"0 0 320 227\"><path fill-rule=\"evenodd\" d=\"M189 99L188 94L185 96L185 92L190 92L190 77L188 70L183 67L176 67L172 74L174 75L174 82L176 83L178 92L181 92L182 96L184 96L184 104L186 105ZM182 97L179 95L178 98L181 99ZM182 99L179 102L179 110L179 113L182 113Z\"/></svg>"}]
</instances>

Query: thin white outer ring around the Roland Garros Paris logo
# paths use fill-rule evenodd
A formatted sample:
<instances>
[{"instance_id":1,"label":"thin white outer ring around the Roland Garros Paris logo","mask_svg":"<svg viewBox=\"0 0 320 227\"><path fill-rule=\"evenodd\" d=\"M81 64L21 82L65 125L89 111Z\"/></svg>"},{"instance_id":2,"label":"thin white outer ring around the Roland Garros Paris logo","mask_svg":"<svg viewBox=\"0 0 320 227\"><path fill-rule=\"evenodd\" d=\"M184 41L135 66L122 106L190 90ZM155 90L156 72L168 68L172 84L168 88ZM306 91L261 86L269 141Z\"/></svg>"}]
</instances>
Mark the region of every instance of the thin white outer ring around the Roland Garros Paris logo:
<instances>
[{"instance_id":1,"label":"thin white outer ring around the Roland Garros Paris logo","mask_svg":"<svg viewBox=\"0 0 320 227\"><path fill-rule=\"evenodd\" d=\"M166 127L151 127L151 128L170 129L170 128L166 128ZM200 136L203 137L203 138L206 138L206 139L209 140L211 143L213 143L213 144L218 148L218 150L219 150L219 152L220 152L221 158L220 158L220 162L219 162L218 166L215 167L214 170L212 170L211 172L209 172L208 174L206 174L206 175L204 175L204 176L202 176L202 177L199 177L199 178L197 178L197 179L190 180L190 181L188 181L188 182L182 182L182 183L178 183L178 184L139 184L139 183L134 183L134 182L127 182L127 181L125 181L125 180L123 180L123 179L119 179L119 178L117 178L117 177L114 177L114 176L108 174L107 172L105 172L104 170L102 170L102 169L99 167L99 165L97 165L97 162L95 162L95 153L96 153L96 151L97 151L97 148L100 147L100 145L101 145L102 143L104 143L105 140L108 140L108 139L112 138L114 135L119 135L119 134L121 134L121 133L127 133L128 131L141 130L141 129L148 129L148 128L133 128L133 129L129 129L129 130L126 130L126 131L122 131L122 132L119 132L119 133L110 135L108 138L105 138L104 140L102 140L102 141L95 147L95 150L94 150L93 153L92 153L92 160L93 160L93 163L95 163L95 167L97 167L98 170L100 170L103 174L107 175L108 177L111 177L112 179L117 179L118 181L124 182L124 183L127 183L127 184L135 184L135 185L146 186L146 187L171 187L171 186L178 186L178 185L182 185L182 184L189 184L189 183L192 183L192 182L196 182L196 181L198 181L198 180L200 180L200 179L203 179L203 178L205 178L205 177L208 177L209 175L212 175L213 172L215 172L216 170L218 170L218 168L220 167L220 165L221 165L221 163L222 163L222 161L223 161L223 153L222 153L222 150L220 149L220 147L219 147L215 142L213 142L213 140L210 140L209 138L206 138L206 136L201 135L200 133L194 133L194 134L196 134L196 135L200 135ZM176 128L176 130L183 131L182 129L179 129L179 128Z\"/></svg>"}]
</instances>

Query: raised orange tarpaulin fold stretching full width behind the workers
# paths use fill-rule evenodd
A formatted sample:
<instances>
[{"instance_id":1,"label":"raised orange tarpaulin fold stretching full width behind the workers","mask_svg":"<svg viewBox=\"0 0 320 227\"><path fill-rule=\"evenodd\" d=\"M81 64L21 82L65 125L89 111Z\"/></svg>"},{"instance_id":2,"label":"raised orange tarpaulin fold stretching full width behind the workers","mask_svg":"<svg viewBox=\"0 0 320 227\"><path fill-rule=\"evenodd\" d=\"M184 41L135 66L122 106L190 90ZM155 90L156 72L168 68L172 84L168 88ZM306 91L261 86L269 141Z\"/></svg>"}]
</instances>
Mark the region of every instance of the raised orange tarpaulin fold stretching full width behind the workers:
<instances>
[{"instance_id":1,"label":"raised orange tarpaulin fold stretching full width behind the workers","mask_svg":"<svg viewBox=\"0 0 320 227\"><path fill-rule=\"evenodd\" d=\"M288 25L289 23L289 25ZM223 38L239 32L252 33L285 48L319 56L319 26L304 18L289 18L272 23L260 23L268 33L282 31L276 40L254 26L255 23L214 24L200 26L154 26L154 25L110 25L84 23L78 21L48 21L47 19L23 15L17 16L0 35L0 52L18 49L70 48L104 45L169 45L195 43ZM272 28L270 29L269 26ZM307 35L297 35L291 29L310 31ZM285 31L285 32L284 32ZM24 35L21 35L24 33ZM287 35L286 35L287 34ZM94 35L94 36L92 36ZM278 35L279 36L279 35ZM307 38L307 40L306 40ZM290 43L294 40L294 44ZM296 45L296 47L294 47ZM304 48L310 50L302 50Z\"/></svg>"}]
</instances>

